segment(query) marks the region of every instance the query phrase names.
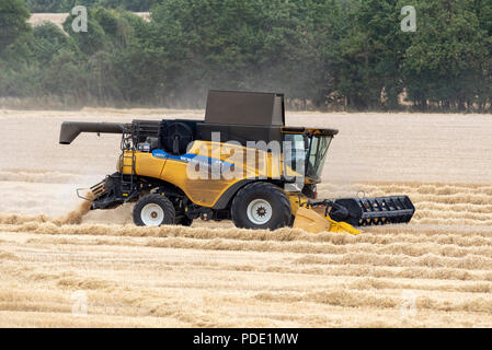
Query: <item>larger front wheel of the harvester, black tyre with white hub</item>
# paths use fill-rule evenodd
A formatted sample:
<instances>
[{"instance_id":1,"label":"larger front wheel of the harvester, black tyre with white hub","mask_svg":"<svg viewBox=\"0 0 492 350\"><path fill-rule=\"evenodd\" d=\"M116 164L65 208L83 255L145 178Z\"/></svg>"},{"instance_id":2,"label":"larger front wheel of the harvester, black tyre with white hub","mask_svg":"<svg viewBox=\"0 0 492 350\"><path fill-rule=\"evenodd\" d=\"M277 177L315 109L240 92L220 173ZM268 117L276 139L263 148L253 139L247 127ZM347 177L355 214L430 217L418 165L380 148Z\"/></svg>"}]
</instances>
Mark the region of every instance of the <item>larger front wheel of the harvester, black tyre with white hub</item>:
<instances>
[{"instance_id":1,"label":"larger front wheel of the harvester, black tyre with white hub","mask_svg":"<svg viewBox=\"0 0 492 350\"><path fill-rule=\"evenodd\" d=\"M254 183L236 195L231 217L241 229L276 230L289 225L290 202L278 186Z\"/></svg>"}]
</instances>

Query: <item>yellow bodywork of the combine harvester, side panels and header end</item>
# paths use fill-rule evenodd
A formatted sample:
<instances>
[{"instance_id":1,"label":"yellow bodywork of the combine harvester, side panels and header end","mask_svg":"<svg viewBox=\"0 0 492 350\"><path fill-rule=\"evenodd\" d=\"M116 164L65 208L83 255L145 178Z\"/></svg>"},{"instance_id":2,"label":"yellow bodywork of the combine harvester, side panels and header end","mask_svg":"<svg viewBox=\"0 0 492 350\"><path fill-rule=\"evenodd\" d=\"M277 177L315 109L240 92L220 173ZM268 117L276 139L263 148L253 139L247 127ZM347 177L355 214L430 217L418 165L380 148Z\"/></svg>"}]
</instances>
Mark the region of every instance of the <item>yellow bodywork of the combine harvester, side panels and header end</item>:
<instances>
[{"instance_id":1,"label":"yellow bodywork of the combine harvester, side panels and header end","mask_svg":"<svg viewBox=\"0 0 492 350\"><path fill-rule=\"evenodd\" d=\"M190 160L179 156L157 158L149 152L125 151L118 162L118 171L124 174L159 178L179 187L194 203L211 208L231 186L243 179L273 179L282 176L300 176L290 167L284 166L282 153L249 149L239 144L209 141L193 142L187 154L211 158L214 161L233 164L233 174L219 172L218 178L211 173L197 173L190 176ZM242 161L241 161L242 160ZM250 160L253 160L250 162ZM238 166L238 164L240 166ZM193 167L192 167L193 170ZM230 176L228 176L230 175ZM309 183L309 179L306 179ZM286 191L290 200L291 212L296 217L295 228L319 233L347 232L357 234L361 231L343 222L335 222L329 215L323 217L309 207L309 199L300 192Z\"/></svg>"}]
</instances>

